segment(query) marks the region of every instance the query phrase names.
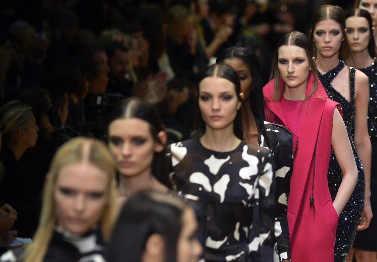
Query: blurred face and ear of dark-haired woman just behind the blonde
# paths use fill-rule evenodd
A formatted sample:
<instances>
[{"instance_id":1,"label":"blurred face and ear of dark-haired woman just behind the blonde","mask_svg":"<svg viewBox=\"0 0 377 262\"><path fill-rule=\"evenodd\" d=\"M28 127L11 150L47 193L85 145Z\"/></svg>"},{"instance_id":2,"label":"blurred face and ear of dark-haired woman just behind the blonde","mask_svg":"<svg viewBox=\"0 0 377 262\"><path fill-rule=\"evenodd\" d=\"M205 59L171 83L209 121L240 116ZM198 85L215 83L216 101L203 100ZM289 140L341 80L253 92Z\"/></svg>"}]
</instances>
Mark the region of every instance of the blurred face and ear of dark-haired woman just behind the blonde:
<instances>
[{"instance_id":1,"label":"blurred face and ear of dark-haired woman just behind the blonde","mask_svg":"<svg viewBox=\"0 0 377 262\"><path fill-rule=\"evenodd\" d=\"M156 143L149 123L138 119L116 119L109 125L109 148L123 176L151 173L155 152L163 146Z\"/></svg>"}]
</instances>

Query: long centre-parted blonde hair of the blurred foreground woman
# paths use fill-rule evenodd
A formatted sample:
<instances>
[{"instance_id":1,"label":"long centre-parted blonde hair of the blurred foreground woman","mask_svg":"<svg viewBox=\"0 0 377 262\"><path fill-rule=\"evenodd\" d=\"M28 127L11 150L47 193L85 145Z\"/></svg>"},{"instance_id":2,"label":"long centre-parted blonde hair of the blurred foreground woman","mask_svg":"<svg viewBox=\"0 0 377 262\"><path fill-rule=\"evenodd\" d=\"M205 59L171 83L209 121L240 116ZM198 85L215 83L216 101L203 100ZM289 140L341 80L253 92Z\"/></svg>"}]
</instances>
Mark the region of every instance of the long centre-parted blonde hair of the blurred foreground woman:
<instances>
[{"instance_id":1,"label":"long centre-parted blonde hair of the blurred foreground woman","mask_svg":"<svg viewBox=\"0 0 377 262\"><path fill-rule=\"evenodd\" d=\"M88 149L89 147L89 149ZM108 174L108 204L104 207L100 221L102 236L109 240L116 218L115 203L115 161L103 142L95 139L77 137L65 143L52 159L48 177L44 184L42 211L37 232L33 241L25 250L22 259L25 262L41 262L48 249L54 231L56 218L54 208L54 187L58 174L64 166L88 161Z\"/></svg>"}]
</instances>

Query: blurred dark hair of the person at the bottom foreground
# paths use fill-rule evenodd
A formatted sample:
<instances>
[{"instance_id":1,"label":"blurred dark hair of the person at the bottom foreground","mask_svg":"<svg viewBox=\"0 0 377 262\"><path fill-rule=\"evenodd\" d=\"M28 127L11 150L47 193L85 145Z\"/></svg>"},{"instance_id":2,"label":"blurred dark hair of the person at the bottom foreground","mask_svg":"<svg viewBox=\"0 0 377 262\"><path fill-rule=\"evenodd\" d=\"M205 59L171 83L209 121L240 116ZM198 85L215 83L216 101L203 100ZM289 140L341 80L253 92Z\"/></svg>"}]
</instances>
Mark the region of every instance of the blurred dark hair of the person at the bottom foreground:
<instances>
[{"instance_id":1,"label":"blurred dark hair of the person at the bottom foreground","mask_svg":"<svg viewBox=\"0 0 377 262\"><path fill-rule=\"evenodd\" d=\"M133 194L120 211L106 261L140 262L148 237L161 234L164 261L175 262L185 207L183 200L175 196L155 191Z\"/></svg>"}]
</instances>

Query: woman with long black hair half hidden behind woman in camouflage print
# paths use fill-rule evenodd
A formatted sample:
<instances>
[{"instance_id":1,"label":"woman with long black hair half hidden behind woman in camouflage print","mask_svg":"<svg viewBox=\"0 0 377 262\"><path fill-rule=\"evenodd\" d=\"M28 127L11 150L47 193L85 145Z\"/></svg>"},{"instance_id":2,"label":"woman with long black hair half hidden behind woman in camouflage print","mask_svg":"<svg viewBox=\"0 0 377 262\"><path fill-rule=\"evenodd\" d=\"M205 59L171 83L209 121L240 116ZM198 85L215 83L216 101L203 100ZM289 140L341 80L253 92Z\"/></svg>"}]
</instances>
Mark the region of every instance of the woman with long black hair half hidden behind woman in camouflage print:
<instances>
[{"instance_id":1,"label":"woman with long black hair half hidden behind woman in camouflage print","mask_svg":"<svg viewBox=\"0 0 377 262\"><path fill-rule=\"evenodd\" d=\"M251 49L231 47L220 52L216 63L231 66L238 74L241 91L244 93L244 137L254 145L269 148L275 162L276 179L276 260L289 261L289 231L287 221L287 199L293 171L292 134L281 125L265 122L264 100L259 62ZM247 124L247 125L246 125ZM248 133L247 133L248 132Z\"/></svg>"}]
</instances>

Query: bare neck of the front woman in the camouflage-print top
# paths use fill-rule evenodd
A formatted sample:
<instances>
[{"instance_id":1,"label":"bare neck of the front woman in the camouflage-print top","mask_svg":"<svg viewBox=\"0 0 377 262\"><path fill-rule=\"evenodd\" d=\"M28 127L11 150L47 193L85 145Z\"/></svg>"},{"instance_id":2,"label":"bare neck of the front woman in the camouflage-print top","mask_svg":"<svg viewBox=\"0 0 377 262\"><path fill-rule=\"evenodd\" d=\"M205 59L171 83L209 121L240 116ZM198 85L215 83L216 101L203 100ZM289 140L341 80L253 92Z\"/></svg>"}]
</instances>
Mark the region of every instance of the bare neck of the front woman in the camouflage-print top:
<instances>
[{"instance_id":1,"label":"bare neck of the front woman in the camouflage-print top","mask_svg":"<svg viewBox=\"0 0 377 262\"><path fill-rule=\"evenodd\" d=\"M205 148L218 152L228 152L237 148L241 140L233 131L233 123L222 129L212 129L208 125L200 142Z\"/></svg>"}]
</instances>

